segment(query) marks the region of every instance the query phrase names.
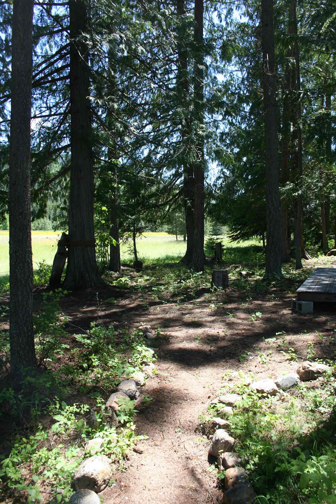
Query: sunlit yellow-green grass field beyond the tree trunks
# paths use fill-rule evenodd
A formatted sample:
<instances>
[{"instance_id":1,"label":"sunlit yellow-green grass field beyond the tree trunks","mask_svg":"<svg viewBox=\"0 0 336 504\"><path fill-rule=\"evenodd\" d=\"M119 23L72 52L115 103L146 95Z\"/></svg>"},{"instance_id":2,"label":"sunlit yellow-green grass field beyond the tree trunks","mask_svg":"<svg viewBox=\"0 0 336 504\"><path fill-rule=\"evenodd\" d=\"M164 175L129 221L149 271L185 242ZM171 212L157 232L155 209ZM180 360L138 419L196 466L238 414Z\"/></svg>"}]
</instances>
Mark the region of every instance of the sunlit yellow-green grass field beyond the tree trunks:
<instances>
[{"instance_id":1,"label":"sunlit yellow-green grass field beyond the tree trunks","mask_svg":"<svg viewBox=\"0 0 336 504\"><path fill-rule=\"evenodd\" d=\"M52 264L57 249L57 241L60 231L32 231L33 267L38 269L39 263L45 261ZM223 237L225 246L224 254L230 259L231 251L248 245L259 244L256 240L249 240L239 245L230 243L228 238ZM144 263L157 260L178 261L185 253L186 242L180 238L176 241L175 236L168 233L144 233L137 239L138 256ZM132 242L121 243L121 261L131 263L133 261ZM3 280L9 275L9 233L0 231L0 276Z\"/></svg>"}]
</instances>

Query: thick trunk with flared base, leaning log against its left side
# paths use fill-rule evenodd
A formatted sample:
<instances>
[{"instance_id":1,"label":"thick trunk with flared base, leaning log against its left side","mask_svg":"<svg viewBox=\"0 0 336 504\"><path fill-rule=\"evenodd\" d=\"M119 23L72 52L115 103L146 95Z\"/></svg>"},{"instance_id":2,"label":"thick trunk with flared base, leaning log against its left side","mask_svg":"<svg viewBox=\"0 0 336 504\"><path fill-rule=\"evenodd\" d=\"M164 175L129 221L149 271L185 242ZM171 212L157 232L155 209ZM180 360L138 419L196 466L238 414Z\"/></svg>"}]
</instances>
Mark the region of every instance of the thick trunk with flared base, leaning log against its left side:
<instances>
[{"instance_id":1,"label":"thick trunk with flared base, leaning log against its left side","mask_svg":"<svg viewBox=\"0 0 336 504\"><path fill-rule=\"evenodd\" d=\"M84 0L69 0L71 174L68 267L64 288L100 285L93 226L93 152L88 48L81 39L87 28Z\"/></svg>"}]
</instances>

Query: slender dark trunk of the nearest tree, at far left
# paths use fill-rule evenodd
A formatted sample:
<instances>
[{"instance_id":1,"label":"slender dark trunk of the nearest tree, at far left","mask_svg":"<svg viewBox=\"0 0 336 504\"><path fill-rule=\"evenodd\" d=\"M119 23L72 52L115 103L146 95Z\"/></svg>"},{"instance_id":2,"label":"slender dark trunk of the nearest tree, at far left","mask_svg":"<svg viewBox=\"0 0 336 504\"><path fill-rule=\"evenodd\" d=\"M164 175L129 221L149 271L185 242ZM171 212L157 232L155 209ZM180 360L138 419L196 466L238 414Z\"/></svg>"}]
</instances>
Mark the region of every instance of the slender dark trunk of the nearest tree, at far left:
<instances>
[{"instance_id":1,"label":"slender dark trunk of the nearest tree, at far left","mask_svg":"<svg viewBox=\"0 0 336 504\"><path fill-rule=\"evenodd\" d=\"M9 160L10 346L15 389L36 368L30 226L30 116L33 0L14 0Z\"/></svg>"}]
</instances>

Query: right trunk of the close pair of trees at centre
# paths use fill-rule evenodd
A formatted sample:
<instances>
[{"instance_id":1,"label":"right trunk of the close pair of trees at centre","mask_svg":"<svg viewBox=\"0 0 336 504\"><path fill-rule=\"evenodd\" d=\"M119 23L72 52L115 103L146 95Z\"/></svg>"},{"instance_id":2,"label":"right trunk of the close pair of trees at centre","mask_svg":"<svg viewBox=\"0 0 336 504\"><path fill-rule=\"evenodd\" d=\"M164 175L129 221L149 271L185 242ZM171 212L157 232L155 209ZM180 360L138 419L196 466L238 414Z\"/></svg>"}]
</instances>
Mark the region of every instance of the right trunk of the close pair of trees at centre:
<instances>
[{"instance_id":1,"label":"right trunk of the close pair of trees at centre","mask_svg":"<svg viewBox=\"0 0 336 504\"><path fill-rule=\"evenodd\" d=\"M195 271L204 271L204 136L199 133L204 126L204 48L203 48L203 0L195 0L194 8L194 123L196 127L195 159L193 161L194 196L194 242L191 266Z\"/></svg>"}]
</instances>

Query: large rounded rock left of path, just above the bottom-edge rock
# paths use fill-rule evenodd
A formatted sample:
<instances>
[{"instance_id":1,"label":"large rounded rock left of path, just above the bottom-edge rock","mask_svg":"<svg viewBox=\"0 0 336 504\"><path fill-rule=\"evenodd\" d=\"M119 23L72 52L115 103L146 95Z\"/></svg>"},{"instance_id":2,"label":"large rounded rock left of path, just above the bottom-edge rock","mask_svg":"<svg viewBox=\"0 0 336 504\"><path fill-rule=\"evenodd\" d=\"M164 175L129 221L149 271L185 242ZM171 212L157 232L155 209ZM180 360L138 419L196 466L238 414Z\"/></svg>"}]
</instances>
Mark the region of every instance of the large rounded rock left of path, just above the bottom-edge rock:
<instances>
[{"instance_id":1,"label":"large rounded rock left of path, just above the bottom-edge rock","mask_svg":"<svg viewBox=\"0 0 336 504\"><path fill-rule=\"evenodd\" d=\"M110 461L105 455L90 457L82 462L73 476L76 490L86 488L101 492L112 478Z\"/></svg>"}]
</instances>

